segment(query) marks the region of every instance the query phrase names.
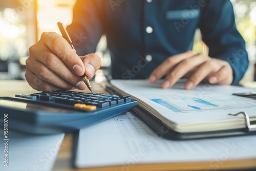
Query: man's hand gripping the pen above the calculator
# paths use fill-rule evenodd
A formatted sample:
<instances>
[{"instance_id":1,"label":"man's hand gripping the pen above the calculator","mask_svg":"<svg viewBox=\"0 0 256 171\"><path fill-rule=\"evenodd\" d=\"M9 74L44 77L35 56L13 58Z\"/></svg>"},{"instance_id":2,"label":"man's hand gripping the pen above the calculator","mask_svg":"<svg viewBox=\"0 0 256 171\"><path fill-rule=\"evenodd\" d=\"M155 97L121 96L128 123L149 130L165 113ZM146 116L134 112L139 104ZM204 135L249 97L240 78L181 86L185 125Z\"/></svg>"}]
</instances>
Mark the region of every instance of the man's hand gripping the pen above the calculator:
<instances>
[{"instance_id":1,"label":"man's hand gripping the pen above the calculator","mask_svg":"<svg viewBox=\"0 0 256 171\"><path fill-rule=\"evenodd\" d=\"M96 54L78 56L68 41L57 33L42 33L40 40L30 47L26 60L26 79L38 91L86 89L81 76L89 78L101 66Z\"/></svg>"}]
</instances>

